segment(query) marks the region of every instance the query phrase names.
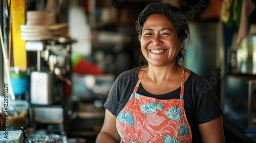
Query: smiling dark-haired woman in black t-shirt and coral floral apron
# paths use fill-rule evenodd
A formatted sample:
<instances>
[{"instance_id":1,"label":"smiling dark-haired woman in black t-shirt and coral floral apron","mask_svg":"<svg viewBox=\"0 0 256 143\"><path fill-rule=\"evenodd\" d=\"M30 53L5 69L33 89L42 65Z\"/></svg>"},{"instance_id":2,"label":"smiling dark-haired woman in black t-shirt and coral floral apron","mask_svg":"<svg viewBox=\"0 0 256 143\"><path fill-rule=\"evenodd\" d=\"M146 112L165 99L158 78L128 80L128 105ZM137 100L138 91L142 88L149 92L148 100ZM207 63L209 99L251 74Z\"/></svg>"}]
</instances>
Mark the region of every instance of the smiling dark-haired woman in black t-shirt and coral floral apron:
<instances>
[{"instance_id":1,"label":"smiling dark-haired woman in black t-shirt and coral floral apron","mask_svg":"<svg viewBox=\"0 0 256 143\"><path fill-rule=\"evenodd\" d=\"M136 30L145 62L116 79L96 142L225 142L214 91L196 90L209 82L179 65L189 35L185 16L168 3L152 3Z\"/></svg>"}]
</instances>

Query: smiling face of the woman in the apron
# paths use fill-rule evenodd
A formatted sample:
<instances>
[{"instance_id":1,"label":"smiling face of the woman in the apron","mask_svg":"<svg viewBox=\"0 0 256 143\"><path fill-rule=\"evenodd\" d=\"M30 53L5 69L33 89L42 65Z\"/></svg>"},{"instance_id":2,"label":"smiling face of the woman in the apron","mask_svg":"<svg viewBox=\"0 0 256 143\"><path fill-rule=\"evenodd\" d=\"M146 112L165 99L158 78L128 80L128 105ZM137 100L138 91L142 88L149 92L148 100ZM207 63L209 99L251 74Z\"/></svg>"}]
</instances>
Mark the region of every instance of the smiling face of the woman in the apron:
<instances>
[{"instance_id":1,"label":"smiling face of the woman in the apron","mask_svg":"<svg viewBox=\"0 0 256 143\"><path fill-rule=\"evenodd\" d=\"M152 14L146 19L140 43L148 64L158 67L175 63L182 46L173 22L163 14Z\"/></svg>"}]
</instances>

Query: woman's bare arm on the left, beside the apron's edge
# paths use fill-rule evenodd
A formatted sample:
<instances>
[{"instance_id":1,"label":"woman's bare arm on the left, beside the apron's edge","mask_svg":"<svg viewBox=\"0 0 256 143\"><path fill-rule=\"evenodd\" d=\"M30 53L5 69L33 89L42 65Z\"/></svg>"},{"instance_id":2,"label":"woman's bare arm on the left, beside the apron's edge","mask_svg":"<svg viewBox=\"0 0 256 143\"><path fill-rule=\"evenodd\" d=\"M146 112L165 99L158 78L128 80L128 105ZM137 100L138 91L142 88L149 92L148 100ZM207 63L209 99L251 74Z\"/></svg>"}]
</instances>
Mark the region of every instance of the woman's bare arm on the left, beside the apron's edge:
<instances>
[{"instance_id":1,"label":"woman's bare arm on the left, beside the apron's edge","mask_svg":"<svg viewBox=\"0 0 256 143\"><path fill-rule=\"evenodd\" d=\"M116 116L109 110L105 110L105 118L96 143L100 142L120 142L120 136L116 129Z\"/></svg>"}]
</instances>

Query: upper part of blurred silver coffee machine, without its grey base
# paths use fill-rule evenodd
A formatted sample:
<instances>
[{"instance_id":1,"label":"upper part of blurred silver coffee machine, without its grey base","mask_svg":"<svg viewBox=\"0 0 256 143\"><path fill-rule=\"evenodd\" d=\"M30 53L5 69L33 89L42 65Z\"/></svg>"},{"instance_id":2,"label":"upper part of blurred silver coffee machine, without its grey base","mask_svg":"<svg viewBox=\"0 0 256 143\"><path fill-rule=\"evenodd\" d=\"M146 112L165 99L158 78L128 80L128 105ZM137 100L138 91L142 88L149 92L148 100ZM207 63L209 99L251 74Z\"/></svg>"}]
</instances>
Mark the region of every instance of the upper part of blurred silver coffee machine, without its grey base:
<instances>
[{"instance_id":1,"label":"upper part of blurred silver coffee machine, without its grey base","mask_svg":"<svg viewBox=\"0 0 256 143\"><path fill-rule=\"evenodd\" d=\"M27 41L26 50L37 53L37 70L31 72L31 104L53 105L69 96L71 46L67 38Z\"/></svg>"}]
</instances>

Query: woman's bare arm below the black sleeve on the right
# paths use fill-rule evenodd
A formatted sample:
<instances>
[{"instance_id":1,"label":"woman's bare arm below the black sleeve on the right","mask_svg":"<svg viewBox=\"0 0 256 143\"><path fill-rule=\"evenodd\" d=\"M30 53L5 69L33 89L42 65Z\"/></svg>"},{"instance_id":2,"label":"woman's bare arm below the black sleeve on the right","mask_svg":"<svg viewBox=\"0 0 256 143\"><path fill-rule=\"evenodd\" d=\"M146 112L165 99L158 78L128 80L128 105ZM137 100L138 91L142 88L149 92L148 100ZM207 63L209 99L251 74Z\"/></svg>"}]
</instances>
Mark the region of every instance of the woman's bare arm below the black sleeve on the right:
<instances>
[{"instance_id":1,"label":"woman's bare arm below the black sleeve on the right","mask_svg":"<svg viewBox=\"0 0 256 143\"><path fill-rule=\"evenodd\" d=\"M210 122L199 124L198 128L204 143L225 142L222 116Z\"/></svg>"}]
</instances>

